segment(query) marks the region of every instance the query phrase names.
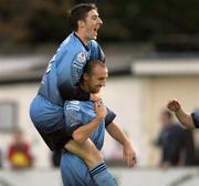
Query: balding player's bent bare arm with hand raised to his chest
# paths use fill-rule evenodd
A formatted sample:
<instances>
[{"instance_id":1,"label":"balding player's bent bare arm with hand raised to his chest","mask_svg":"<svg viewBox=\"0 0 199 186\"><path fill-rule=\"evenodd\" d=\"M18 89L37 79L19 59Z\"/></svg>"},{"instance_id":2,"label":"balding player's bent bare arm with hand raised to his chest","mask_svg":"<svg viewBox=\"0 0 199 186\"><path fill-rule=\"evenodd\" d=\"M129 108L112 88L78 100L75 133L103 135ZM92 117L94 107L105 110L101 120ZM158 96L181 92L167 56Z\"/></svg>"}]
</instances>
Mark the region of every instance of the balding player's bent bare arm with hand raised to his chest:
<instances>
[{"instance_id":1,"label":"balding player's bent bare arm with hand raised to his chest","mask_svg":"<svg viewBox=\"0 0 199 186\"><path fill-rule=\"evenodd\" d=\"M77 143L84 143L90 136L92 135L93 131L96 130L96 127L103 122L103 120L106 116L106 107L98 102L94 103L94 108L96 111L96 117L90 122L88 124L84 124L80 127L77 127L73 134L72 137Z\"/></svg>"}]
</instances>

